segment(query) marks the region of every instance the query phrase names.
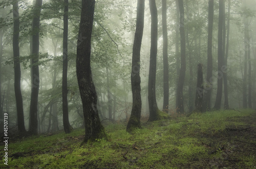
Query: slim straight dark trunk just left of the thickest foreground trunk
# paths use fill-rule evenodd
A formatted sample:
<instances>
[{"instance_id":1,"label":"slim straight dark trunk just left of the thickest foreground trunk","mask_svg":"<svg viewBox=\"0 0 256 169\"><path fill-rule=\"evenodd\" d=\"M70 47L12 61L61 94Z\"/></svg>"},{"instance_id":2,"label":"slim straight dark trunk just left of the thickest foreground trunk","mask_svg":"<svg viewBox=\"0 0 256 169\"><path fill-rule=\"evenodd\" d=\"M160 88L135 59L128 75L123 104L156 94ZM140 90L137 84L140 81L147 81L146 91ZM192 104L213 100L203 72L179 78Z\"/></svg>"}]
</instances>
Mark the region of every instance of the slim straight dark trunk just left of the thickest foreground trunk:
<instances>
[{"instance_id":1,"label":"slim straight dark trunk just left of the thickest foreground trunk","mask_svg":"<svg viewBox=\"0 0 256 169\"><path fill-rule=\"evenodd\" d=\"M68 24L69 24L69 0L64 0L63 14L63 69L62 69L62 111L63 111L63 127L65 133L72 130L69 124L68 109Z\"/></svg>"}]
</instances>

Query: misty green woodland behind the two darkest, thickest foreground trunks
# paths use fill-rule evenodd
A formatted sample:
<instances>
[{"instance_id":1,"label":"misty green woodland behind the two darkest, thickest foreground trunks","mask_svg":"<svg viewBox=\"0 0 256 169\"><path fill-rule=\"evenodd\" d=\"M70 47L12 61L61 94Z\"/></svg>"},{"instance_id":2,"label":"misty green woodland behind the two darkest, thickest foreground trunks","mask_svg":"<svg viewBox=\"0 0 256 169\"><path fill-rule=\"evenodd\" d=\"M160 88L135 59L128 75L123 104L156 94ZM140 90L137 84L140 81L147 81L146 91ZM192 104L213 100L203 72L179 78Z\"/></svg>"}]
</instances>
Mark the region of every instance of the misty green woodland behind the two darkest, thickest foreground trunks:
<instances>
[{"instance_id":1,"label":"misty green woodland behind the two darkest, thickest foreground trunks","mask_svg":"<svg viewBox=\"0 0 256 169\"><path fill-rule=\"evenodd\" d=\"M68 133L87 125L76 77L77 49L88 38L78 34L82 2L0 2L0 118L8 112L19 132ZM152 121L160 110L197 109L196 92L202 111L256 108L255 7L251 0L145 1L140 58L132 62L137 2L96 1L90 71L100 121L128 122L131 76L140 81L139 117Z\"/></svg>"}]
</instances>

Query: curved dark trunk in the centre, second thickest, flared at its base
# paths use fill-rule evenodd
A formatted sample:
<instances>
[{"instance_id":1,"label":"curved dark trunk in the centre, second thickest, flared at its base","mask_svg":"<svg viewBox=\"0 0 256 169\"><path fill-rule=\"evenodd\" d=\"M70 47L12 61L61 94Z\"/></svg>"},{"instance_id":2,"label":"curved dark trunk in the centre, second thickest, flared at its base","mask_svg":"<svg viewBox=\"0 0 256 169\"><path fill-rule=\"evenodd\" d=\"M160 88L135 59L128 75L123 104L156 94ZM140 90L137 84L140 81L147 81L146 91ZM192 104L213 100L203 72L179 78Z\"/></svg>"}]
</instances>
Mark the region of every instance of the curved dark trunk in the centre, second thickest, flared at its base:
<instances>
[{"instance_id":1,"label":"curved dark trunk in the centre, second thickest, flared at its base","mask_svg":"<svg viewBox=\"0 0 256 169\"><path fill-rule=\"evenodd\" d=\"M137 21L136 31L133 44L133 59L132 59L132 73L131 83L133 92L133 107L131 117L126 127L126 131L131 132L135 128L141 128L141 95L140 95L140 49L144 29L144 7L145 0L137 1Z\"/></svg>"}]
</instances>

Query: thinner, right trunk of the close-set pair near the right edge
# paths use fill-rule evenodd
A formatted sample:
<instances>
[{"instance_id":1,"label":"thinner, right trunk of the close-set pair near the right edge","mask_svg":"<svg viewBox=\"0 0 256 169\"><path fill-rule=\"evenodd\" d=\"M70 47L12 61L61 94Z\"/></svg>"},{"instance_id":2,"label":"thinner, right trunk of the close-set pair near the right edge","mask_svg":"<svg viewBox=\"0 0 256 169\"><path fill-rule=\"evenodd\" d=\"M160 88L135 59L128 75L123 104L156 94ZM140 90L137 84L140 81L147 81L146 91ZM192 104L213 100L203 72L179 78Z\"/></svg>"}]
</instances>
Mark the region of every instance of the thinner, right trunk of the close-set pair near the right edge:
<instances>
[{"instance_id":1,"label":"thinner, right trunk of the close-set pair near the right edge","mask_svg":"<svg viewBox=\"0 0 256 169\"><path fill-rule=\"evenodd\" d=\"M230 0L228 0L228 11L227 11L227 44L226 44L225 63L224 63L226 68L227 68L227 57L228 57L228 47L229 47L229 24L230 24ZM223 83L224 84L224 108L229 108L227 69L223 71L223 82L224 82Z\"/></svg>"}]
</instances>

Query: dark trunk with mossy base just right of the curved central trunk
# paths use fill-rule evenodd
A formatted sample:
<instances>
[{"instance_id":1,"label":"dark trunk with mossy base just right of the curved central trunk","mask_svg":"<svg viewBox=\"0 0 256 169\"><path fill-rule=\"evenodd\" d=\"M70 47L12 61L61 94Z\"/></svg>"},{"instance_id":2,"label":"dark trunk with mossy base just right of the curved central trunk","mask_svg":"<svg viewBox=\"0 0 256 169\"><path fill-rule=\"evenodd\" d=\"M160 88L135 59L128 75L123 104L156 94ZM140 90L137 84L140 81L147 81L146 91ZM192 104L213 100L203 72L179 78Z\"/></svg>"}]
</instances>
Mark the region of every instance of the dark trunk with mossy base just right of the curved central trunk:
<instances>
[{"instance_id":1,"label":"dark trunk with mossy base just right of the curved central trunk","mask_svg":"<svg viewBox=\"0 0 256 169\"><path fill-rule=\"evenodd\" d=\"M156 1L150 0L151 13L151 48L150 48L150 72L148 74L148 105L150 106L150 118L148 121L157 119L158 107L156 100L156 68L157 68L157 34L158 19Z\"/></svg>"}]
</instances>

